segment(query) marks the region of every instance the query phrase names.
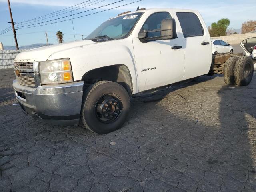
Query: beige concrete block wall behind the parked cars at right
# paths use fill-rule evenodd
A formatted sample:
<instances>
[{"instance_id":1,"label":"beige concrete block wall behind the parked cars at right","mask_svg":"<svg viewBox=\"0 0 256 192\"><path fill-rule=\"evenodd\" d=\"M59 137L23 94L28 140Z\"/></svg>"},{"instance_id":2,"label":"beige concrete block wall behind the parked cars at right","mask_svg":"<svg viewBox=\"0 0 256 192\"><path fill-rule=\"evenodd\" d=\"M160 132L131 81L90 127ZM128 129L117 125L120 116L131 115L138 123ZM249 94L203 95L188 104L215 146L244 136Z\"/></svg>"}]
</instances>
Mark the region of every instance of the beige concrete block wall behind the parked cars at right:
<instances>
[{"instance_id":1,"label":"beige concrete block wall behind the parked cars at right","mask_svg":"<svg viewBox=\"0 0 256 192\"><path fill-rule=\"evenodd\" d=\"M236 34L236 35L225 35L225 36L219 36L219 37L211 37L211 39L221 39L229 44L239 44L241 41L256 37L256 32L254 33L246 33L246 34Z\"/></svg>"}]
</instances>

